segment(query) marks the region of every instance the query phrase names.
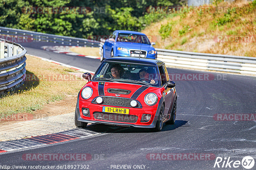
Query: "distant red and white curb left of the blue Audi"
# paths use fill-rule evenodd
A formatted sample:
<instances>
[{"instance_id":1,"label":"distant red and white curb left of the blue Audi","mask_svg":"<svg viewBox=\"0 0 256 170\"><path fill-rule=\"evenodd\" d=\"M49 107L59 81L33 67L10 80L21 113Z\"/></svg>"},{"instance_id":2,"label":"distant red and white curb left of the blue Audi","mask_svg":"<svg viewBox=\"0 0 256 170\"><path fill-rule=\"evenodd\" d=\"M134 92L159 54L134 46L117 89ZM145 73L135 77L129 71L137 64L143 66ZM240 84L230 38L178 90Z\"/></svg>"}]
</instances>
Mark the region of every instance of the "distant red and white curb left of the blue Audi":
<instances>
[{"instance_id":1,"label":"distant red and white curb left of the blue Audi","mask_svg":"<svg viewBox=\"0 0 256 170\"><path fill-rule=\"evenodd\" d=\"M93 59L100 59L100 57L92 56L92 55L83 55L83 54L78 54L70 51L70 48L81 48L81 46L42 46L46 51L52 51L54 53L64 53L67 55L76 55L76 56L82 56L82 57L87 57L87 58L93 58Z\"/></svg>"}]
</instances>

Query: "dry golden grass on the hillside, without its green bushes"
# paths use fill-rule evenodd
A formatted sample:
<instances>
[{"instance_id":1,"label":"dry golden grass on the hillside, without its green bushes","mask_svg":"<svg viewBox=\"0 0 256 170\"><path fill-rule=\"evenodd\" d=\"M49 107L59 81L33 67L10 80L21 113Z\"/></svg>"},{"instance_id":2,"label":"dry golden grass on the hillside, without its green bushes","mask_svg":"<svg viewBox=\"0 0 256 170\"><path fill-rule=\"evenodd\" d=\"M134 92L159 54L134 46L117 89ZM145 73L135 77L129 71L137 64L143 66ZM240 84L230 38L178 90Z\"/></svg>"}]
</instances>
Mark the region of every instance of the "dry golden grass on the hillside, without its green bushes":
<instances>
[{"instance_id":1,"label":"dry golden grass on the hillside, without its green bushes","mask_svg":"<svg viewBox=\"0 0 256 170\"><path fill-rule=\"evenodd\" d=\"M248 1L235 1L218 4L219 7L236 8L236 12L231 13L232 20L220 26L216 23L218 19L224 18L224 13L186 13L153 23L142 32L146 35L160 36L161 25L172 22L174 24L170 37L166 38L165 42L156 42L156 48L256 57L255 41L250 43L214 41L218 35L254 35L255 37L256 8L249 3ZM179 31L182 31L184 26L189 26L189 29L179 35ZM185 43L184 39L187 39Z\"/></svg>"}]
</instances>

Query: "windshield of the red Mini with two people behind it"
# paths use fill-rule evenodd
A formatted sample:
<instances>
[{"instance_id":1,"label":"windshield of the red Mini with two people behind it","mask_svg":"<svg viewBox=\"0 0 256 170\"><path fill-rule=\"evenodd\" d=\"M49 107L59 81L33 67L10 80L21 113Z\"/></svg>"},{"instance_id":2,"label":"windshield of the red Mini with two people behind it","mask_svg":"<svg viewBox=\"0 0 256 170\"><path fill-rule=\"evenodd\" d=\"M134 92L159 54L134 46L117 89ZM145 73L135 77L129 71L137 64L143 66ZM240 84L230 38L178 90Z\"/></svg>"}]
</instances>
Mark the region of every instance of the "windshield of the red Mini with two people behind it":
<instances>
[{"instance_id":1,"label":"windshield of the red Mini with two people behind it","mask_svg":"<svg viewBox=\"0 0 256 170\"><path fill-rule=\"evenodd\" d=\"M156 66L104 61L93 77L94 81L135 83L159 87Z\"/></svg>"}]
</instances>

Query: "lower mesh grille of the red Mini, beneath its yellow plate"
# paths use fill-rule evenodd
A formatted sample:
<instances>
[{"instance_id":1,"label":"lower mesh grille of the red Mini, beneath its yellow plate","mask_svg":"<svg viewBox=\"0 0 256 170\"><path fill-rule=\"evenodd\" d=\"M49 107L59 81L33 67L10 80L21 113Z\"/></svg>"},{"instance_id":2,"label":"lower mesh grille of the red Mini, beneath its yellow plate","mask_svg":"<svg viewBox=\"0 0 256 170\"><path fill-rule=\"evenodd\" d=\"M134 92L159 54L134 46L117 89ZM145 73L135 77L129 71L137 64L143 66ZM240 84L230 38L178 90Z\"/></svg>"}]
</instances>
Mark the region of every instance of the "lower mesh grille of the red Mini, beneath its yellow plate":
<instances>
[{"instance_id":1,"label":"lower mesh grille of the red Mini, beneath its yellow plate","mask_svg":"<svg viewBox=\"0 0 256 170\"><path fill-rule=\"evenodd\" d=\"M104 113L104 112L93 112L93 117L98 120L126 122L126 123L136 123L138 120L138 116L136 115L125 115L125 114Z\"/></svg>"}]
</instances>

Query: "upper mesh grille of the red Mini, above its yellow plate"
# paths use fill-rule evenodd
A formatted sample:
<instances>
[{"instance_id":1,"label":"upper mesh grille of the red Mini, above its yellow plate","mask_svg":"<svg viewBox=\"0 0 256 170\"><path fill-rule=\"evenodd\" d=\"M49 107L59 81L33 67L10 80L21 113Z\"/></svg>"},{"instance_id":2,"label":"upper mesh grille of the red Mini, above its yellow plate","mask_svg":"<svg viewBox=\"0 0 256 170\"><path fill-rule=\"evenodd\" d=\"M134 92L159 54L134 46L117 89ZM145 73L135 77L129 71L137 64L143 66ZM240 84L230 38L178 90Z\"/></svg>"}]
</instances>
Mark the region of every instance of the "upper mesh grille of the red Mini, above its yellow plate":
<instances>
[{"instance_id":1,"label":"upper mesh grille of the red Mini, above its yellow plate","mask_svg":"<svg viewBox=\"0 0 256 170\"><path fill-rule=\"evenodd\" d=\"M128 98L122 98L122 97L107 97L107 96L101 96L103 99L103 102L100 104L104 105L111 105L111 106L121 106L121 107L132 107L131 101L134 99L128 99ZM96 100L93 101L93 103L98 104ZM134 108L140 108L140 104L137 102L137 106Z\"/></svg>"}]
</instances>

